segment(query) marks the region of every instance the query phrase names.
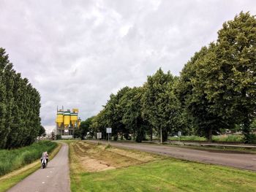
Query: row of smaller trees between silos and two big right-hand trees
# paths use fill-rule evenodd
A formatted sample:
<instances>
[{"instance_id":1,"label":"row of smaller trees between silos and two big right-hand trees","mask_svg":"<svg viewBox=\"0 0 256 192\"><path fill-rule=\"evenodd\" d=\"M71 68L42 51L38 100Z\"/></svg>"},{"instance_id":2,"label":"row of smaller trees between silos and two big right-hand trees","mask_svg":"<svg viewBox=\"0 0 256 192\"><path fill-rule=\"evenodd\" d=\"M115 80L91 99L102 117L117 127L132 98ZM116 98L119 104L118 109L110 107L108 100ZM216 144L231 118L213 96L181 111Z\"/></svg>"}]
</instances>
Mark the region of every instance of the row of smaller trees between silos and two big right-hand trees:
<instances>
[{"instance_id":1,"label":"row of smaller trees between silos and two big right-hand trees","mask_svg":"<svg viewBox=\"0 0 256 192\"><path fill-rule=\"evenodd\" d=\"M111 127L113 139L133 138L136 142L145 140L146 134L151 137L153 128L162 128L166 140L168 131L182 125L180 104L174 94L176 81L170 72L159 69L143 87L125 87L111 94L104 109L93 118L91 128L102 132L103 139L108 139L105 128Z\"/></svg>"}]
</instances>

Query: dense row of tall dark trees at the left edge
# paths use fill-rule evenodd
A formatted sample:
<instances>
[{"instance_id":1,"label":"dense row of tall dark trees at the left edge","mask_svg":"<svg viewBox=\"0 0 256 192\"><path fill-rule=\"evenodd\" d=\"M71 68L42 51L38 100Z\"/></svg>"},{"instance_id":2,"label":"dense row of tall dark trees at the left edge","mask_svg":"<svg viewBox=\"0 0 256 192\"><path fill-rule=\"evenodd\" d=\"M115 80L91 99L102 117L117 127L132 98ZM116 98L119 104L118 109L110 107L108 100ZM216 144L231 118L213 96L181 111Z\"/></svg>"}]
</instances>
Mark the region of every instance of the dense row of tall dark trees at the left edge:
<instances>
[{"instance_id":1,"label":"dense row of tall dark trees at the left edge","mask_svg":"<svg viewBox=\"0 0 256 192\"><path fill-rule=\"evenodd\" d=\"M0 47L0 148L30 145L40 131L40 95Z\"/></svg>"}]
</instances>

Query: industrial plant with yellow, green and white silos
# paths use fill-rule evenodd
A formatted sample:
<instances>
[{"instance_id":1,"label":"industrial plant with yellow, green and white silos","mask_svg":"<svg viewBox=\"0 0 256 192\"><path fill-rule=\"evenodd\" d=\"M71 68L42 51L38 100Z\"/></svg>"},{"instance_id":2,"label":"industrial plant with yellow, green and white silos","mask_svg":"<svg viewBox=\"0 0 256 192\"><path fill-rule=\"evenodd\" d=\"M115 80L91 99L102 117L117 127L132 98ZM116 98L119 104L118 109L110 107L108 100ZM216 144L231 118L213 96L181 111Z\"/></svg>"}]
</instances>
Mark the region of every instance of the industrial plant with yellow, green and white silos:
<instances>
[{"instance_id":1,"label":"industrial plant with yellow, green and white silos","mask_svg":"<svg viewBox=\"0 0 256 192\"><path fill-rule=\"evenodd\" d=\"M80 118L78 118L78 109L58 110L56 117L56 130L55 134L61 135L61 139L68 139L74 136L74 131L80 126Z\"/></svg>"}]
</instances>

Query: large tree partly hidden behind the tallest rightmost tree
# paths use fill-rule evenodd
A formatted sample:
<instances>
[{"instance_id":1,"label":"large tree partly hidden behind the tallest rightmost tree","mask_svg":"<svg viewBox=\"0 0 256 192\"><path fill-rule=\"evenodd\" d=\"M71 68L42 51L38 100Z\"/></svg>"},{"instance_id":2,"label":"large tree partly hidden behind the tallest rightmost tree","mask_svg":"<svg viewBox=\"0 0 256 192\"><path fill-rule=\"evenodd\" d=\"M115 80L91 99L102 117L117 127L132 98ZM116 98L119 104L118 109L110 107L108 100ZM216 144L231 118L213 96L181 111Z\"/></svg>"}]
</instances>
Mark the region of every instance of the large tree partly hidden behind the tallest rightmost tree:
<instances>
[{"instance_id":1,"label":"large tree partly hidden behind the tallest rightmost tree","mask_svg":"<svg viewBox=\"0 0 256 192\"><path fill-rule=\"evenodd\" d=\"M202 47L184 66L178 90L178 98L186 110L184 114L187 114L188 121L192 121L195 134L206 136L209 142L213 132L229 126L222 115L211 110L214 103L208 100L206 93L207 77L202 77L203 72L208 70L206 63L214 58L214 47L213 43Z\"/></svg>"}]
</instances>

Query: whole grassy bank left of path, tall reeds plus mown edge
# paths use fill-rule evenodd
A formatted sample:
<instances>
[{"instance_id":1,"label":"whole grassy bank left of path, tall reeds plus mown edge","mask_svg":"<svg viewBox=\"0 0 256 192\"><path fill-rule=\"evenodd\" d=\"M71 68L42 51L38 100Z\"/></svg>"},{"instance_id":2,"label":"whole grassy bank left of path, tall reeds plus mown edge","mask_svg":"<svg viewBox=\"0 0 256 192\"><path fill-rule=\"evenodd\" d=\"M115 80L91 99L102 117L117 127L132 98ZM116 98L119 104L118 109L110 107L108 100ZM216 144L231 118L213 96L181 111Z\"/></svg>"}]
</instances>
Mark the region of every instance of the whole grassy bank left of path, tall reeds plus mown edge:
<instances>
[{"instance_id":1,"label":"whole grassy bank left of path, tall reeds plus mown edge","mask_svg":"<svg viewBox=\"0 0 256 192\"><path fill-rule=\"evenodd\" d=\"M0 192L7 191L8 188L39 169L41 164L38 159L41 157L42 151L47 150L51 159L59 152L60 147L59 143L48 141L34 143L15 150L0 150L1 170L4 170L5 173L8 172L0 177Z\"/></svg>"}]
</instances>

